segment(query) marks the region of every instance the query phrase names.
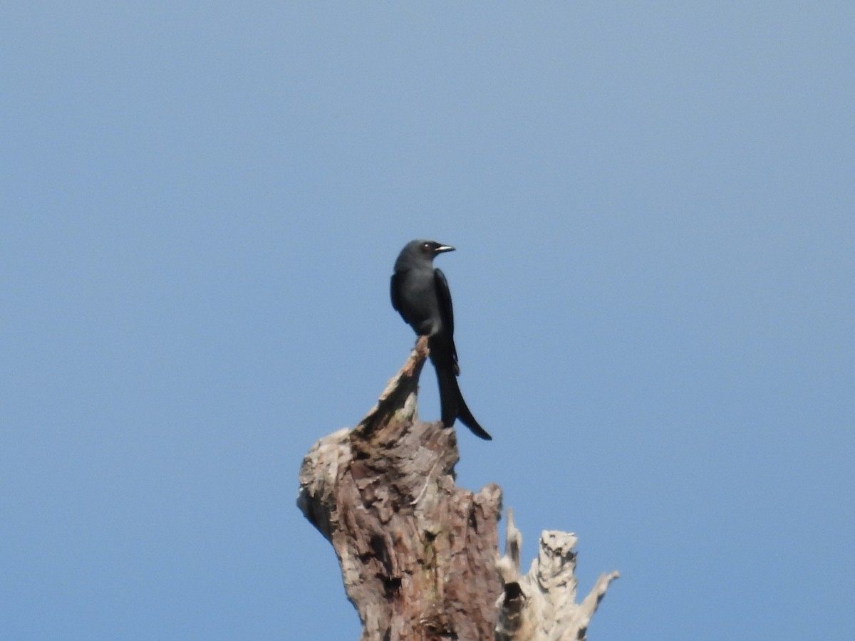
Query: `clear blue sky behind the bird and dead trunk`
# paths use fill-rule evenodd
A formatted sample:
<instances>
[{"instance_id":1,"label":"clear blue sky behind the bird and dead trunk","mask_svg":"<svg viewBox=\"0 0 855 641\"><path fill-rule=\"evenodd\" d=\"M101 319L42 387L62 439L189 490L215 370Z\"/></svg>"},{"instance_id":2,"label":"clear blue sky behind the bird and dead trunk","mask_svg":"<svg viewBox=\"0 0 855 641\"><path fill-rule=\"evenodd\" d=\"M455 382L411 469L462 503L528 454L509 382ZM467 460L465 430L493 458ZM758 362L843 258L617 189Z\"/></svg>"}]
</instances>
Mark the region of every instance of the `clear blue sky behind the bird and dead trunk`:
<instances>
[{"instance_id":1,"label":"clear blue sky behind the bird and dead trunk","mask_svg":"<svg viewBox=\"0 0 855 641\"><path fill-rule=\"evenodd\" d=\"M855 638L855 5L0 8L0 637L356 639L295 505L441 256L589 638ZM426 370L422 416L439 415ZM501 524L504 532L504 521Z\"/></svg>"}]
</instances>

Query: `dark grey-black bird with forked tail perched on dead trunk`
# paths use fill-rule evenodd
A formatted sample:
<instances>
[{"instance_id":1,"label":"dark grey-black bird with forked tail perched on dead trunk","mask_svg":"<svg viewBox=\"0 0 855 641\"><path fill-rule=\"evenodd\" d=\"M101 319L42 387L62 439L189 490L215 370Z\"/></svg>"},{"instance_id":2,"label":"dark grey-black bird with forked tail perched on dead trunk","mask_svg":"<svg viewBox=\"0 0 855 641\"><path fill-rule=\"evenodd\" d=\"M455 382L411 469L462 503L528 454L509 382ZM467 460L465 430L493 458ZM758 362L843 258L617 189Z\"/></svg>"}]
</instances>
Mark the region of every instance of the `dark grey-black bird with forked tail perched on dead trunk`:
<instances>
[{"instance_id":1,"label":"dark grey-black bird with forked tail perched on dead trunk","mask_svg":"<svg viewBox=\"0 0 855 641\"><path fill-rule=\"evenodd\" d=\"M392 274L392 307L416 334L428 337L430 360L439 382L443 424L451 427L455 419L460 419L475 436L489 441L492 437L478 425L457 385L460 367L454 347L451 291L445 274L433 268L433 258L444 251L454 248L433 240L413 240L404 246Z\"/></svg>"}]
</instances>

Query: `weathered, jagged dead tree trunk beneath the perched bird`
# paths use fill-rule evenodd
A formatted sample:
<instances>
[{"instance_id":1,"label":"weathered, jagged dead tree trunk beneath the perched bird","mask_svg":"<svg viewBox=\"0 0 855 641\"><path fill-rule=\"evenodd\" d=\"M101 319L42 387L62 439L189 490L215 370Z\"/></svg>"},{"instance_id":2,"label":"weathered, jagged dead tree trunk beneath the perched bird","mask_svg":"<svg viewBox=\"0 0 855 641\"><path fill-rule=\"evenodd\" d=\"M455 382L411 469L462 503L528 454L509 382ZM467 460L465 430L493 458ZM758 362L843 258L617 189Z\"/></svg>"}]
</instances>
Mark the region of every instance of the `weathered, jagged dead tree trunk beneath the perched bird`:
<instances>
[{"instance_id":1,"label":"weathered, jagged dead tree trunk beneath the perched bird","mask_svg":"<svg viewBox=\"0 0 855 641\"><path fill-rule=\"evenodd\" d=\"M584 638L616 573L576 605L575 538L549 533L561 540L542 539L523 577L511 522L498 558L501 490L458 488L454 430L418 420L427 356L420 338L374 409L352 430L321 438L300 469L298 506L333 544L362 641Z\"/></svg>"}]
</instances>

